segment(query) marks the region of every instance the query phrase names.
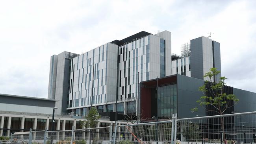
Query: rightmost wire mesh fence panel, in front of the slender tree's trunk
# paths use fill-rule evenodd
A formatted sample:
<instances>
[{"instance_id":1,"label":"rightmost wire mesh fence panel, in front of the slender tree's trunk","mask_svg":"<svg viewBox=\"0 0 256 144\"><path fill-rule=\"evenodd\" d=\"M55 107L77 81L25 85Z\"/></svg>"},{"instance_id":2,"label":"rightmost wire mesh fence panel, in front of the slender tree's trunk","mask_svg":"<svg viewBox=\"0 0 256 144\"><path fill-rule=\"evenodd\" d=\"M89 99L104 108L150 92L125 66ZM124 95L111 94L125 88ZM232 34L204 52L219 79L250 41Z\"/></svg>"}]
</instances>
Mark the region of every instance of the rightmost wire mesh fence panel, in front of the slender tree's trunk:
<instances>
[{"instance_id":1,"label":"rightmost wire mesh fence panel, in front of the slender tree's trunk","mask_svg":"<svg viewBox=\"0 0 256 144\"><path fill-rule=\"evenodd\" d=\"M177 119L180 144L256 143L256 114L236 113Z\"/></svg>"}]
</instances>

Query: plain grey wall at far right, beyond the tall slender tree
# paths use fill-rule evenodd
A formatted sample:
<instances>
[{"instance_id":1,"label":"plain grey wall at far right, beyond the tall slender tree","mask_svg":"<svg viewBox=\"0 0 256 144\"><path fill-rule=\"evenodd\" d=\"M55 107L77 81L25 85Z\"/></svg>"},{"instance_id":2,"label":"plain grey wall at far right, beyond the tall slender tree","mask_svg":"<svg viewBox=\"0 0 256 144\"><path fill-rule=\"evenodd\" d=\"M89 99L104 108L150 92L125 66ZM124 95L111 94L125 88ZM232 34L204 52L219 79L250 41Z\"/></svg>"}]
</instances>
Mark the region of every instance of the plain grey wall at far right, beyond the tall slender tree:
<instances>
[{"instance_id":1,"label":"plain grey wall at far right, beyond the tall slender tree","mask_svg":"<svg viewBox=\"0 0 256 144\"><path fill-rule=\"evenodd\" d=\"M234 105L235 112L256 111L256 93L233 88L233 94L239 99Z\"/></svg>"}]
</instances>

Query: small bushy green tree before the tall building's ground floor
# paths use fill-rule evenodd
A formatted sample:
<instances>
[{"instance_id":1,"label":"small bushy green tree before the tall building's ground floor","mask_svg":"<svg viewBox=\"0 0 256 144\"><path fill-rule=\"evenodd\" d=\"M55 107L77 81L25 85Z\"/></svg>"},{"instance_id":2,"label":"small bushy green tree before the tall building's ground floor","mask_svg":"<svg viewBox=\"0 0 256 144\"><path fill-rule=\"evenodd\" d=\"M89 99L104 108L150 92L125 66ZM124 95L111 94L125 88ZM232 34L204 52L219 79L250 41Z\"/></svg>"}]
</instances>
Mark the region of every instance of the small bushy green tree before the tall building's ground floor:
<instances>
[{"instance_id":1,"label":"small bushy green tree before the tall building's ground floor","mask_svg":"<svg viewBox=\"0 0 256 144\"><path fill-rule=\"evenodd\" d=\"M100 114L95 107L92 107L84 120L80 120L80 127L93 128L96 127L100 119Z\"/></svg>"}]
</instances>

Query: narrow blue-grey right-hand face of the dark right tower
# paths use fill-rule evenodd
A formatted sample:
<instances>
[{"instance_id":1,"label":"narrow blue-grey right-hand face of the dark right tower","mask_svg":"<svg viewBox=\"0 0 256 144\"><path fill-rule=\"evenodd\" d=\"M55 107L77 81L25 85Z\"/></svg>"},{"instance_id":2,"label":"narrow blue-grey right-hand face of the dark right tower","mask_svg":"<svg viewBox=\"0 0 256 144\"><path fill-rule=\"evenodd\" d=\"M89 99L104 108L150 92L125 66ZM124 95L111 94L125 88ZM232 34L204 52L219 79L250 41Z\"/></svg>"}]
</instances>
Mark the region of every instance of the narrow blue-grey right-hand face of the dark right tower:
<instances>
[{"instance_id":1,"label":"narrow blue-grey right-hand face of the dark right tower","mask_svg":"<svg viewBox=\"0 0 256 144\"><path fill-rule=\"evenodd\" d=\"M220 43L216 41L212 41L213 46L213 66L217 68L217 70L221 71L221 47ZM221 74L217 76L217 79L221 77Z\"/></svg>"}]
</instances>

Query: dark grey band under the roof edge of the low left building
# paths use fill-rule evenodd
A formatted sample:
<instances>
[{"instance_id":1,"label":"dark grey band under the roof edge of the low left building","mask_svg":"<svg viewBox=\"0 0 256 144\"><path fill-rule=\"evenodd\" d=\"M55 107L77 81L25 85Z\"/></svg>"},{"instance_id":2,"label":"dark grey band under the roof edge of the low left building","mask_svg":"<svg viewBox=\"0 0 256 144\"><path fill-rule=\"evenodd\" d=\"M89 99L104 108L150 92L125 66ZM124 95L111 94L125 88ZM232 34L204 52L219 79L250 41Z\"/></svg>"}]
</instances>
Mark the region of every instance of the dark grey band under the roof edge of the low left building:
<instances>
[{"instance_id":1,"label":"dark grey band under the roof edge of the low left building","mask_svg":"<svg viewBox=\"0 0 256 144\"><path fill-rule=\"evenodd\" d=\"M0 94L0 103L15 104L15 105L30 105L38 107L55 107L55 101L43 100L37 98L26 98L25 96L6 96Z\"/></svg>"}]
</instances>

